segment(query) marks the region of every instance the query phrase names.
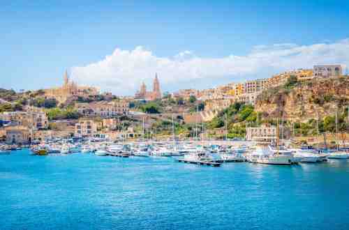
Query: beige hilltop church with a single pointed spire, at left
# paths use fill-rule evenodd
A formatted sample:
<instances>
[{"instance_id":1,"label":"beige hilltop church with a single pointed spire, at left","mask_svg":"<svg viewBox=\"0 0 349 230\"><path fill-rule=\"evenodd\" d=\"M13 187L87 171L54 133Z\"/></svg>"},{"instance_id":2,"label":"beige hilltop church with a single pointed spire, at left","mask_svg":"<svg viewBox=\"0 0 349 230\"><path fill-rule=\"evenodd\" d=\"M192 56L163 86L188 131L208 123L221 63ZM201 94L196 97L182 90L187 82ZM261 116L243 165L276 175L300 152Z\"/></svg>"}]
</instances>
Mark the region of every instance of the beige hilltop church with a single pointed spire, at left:
<instances>
[{"instance_id":1,"label":"beige hilltop church with a single pointed spire, at left","mask_svg":"<svg viewBox=\"0 0 349 230\"><path fill-rule=\"evenodd\" d=\"M69 98L77 96L86 97L88 95L97 95L99 90L91 86L78 86L68 77L68 72L64 72L63 85L57 88L45 89L45 96L55 98L59 102L66 102Z\"/></svg>"}]
</instances>

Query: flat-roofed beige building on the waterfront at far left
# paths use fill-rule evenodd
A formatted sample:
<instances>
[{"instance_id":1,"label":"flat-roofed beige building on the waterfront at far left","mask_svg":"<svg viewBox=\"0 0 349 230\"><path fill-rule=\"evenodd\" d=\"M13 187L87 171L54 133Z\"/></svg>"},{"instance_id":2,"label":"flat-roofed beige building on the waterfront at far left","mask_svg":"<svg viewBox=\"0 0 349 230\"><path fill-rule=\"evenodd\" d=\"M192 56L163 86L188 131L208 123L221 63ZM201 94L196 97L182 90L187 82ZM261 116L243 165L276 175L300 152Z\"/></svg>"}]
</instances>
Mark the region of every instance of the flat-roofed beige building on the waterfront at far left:
<instances>
[{"instance_id":1,"label":"flat-roofed beige building on the waterfront at far left","mask_svg":"<svg viewBox=\"0 0 349 230\"><path fill-rule=\"evenodd\" d=\"M31 135L27 127L18 125L6 128L6 144L28 144Z\"/></svg>"}]
</instances>

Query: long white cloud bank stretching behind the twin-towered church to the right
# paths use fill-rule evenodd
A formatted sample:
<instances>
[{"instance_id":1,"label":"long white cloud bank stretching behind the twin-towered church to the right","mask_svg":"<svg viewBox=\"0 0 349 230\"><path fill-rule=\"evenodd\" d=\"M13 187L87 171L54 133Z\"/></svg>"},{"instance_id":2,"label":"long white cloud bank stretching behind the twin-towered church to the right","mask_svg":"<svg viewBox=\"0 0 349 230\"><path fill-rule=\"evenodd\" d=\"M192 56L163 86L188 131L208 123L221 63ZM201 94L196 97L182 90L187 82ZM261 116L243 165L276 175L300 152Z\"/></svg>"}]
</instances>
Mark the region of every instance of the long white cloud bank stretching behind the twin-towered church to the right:
<instances>
[{"instance_id":1,"label":"long white cloud bank stretching behind the twin-towered church to the right","mask_svg":"<svg viewBox=\"0 0 349 230\"><path fill-rule=\"evenodd\" d=\"M163 90L171 91L242 82L285 70L333 63L349 64L349 39L314 45L258 45L246 56L221 58L202 58L188 50L159 57L141 46L133 50L117 48L101 61L71 68L71 76L79 84L98 86L118 95L133 95L142 81L151 84L155 72Z\"/></svg>"}]
</instances>

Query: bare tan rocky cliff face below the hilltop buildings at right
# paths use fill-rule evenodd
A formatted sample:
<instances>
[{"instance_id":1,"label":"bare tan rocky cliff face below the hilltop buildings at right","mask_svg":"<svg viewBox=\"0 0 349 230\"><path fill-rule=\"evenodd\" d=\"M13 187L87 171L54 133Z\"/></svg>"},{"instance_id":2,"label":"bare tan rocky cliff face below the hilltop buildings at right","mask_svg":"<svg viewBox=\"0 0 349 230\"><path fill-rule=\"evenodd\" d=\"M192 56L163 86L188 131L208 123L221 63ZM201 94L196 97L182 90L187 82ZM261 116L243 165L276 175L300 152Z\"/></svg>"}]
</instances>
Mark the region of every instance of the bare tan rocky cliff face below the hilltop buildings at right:
<instances>
[{"instance_id":1,"label":"bare tan rocky cliff face below the hilltop buildings at right","mask_svg":"<svg viewBox=\"0 0 349 230\"><path fill-rule=\"evenodd\" d=\"M284 112L289 121L309 121L343 112L349 106L349 77L313 79L297 82L289 79L284 86L262 92L255 110L264 117L275 118Z\"/></svg>"}]
</instances>

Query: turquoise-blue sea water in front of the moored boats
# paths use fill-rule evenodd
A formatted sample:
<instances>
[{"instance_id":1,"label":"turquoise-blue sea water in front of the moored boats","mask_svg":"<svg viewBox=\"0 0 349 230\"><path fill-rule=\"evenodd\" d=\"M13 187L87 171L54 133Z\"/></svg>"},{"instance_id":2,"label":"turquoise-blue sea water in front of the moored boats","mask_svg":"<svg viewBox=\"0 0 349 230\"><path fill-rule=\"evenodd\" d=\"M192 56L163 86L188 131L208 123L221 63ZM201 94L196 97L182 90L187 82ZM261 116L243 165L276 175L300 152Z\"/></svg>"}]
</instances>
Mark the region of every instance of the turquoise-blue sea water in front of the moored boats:
<instances>
[{"instance_id":1,"label":"turquoise-blue sea water in front of the moored boats","mask_svg":"<svg viewBox=\"0 0 349 230\"><path fill-rule=\"evenodd\" d=\"M349 161L0 155L0 229L348 229Z\"/></svg>"}]
</instances>

